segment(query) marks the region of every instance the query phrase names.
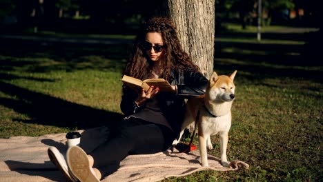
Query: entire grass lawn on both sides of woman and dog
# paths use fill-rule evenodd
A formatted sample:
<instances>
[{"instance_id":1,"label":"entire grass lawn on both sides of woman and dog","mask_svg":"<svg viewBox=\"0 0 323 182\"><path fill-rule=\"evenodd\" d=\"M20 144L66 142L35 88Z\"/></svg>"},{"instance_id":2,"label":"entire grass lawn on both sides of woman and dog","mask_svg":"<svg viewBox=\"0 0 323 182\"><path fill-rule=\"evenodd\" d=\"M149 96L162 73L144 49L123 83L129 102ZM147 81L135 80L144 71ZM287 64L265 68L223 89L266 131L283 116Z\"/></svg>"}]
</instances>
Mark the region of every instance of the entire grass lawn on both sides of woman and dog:
<instances>
[{"instance_id":1,"label":"entire grass lawn on both sides of woman and dog","mask_svg":"<svg viewBox=\"0 0 323 182\"><path fill-rule=\"evenodd\" d=\"M237 70L228 159L251 168L164 181L322 181L322 64L312 61L303 40L239 37L215 42L214 70ZM67 132L117 119L128 54L128 45L8 43L0 50L0 137ZM219 156L217 137L212 140L209 153Z\"/></svg>"}]
</instances>

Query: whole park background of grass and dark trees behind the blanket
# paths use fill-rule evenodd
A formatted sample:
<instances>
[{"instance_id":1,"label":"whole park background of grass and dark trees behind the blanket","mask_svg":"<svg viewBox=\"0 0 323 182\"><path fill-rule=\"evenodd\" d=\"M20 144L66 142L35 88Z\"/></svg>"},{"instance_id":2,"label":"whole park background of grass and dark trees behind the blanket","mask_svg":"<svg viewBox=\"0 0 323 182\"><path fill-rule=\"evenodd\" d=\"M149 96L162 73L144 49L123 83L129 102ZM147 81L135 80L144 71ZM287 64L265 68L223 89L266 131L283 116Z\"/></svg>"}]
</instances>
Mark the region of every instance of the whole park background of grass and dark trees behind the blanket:
<instances>
[{"instance_id":1,"label":"whole park background of grass and dark trees behind the blanket","mask_svg":"<svg viewBox=\"0 0 323 182\"><path fill-rule=\"evenodd\" d=\"M318 2L263 0L259 41L257 1L215 1L214 70L238 71L228 159L251 169L165 181L322 181ZM121 71L160 3L0 0L0 137L120 119ZM215 136L213 144L219 156Z\"/></svg>"}]
</instances>

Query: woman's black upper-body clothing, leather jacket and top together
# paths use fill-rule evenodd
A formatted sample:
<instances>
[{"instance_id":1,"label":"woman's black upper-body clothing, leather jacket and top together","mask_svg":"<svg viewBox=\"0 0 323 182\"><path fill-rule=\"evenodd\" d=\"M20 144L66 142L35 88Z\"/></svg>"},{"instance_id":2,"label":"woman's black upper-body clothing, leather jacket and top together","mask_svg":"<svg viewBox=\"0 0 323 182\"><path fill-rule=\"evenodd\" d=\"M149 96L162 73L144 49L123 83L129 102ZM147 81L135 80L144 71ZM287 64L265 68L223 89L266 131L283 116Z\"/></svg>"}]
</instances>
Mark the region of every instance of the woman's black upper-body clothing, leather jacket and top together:
<instances>
[{"instance_id":1,"label":"woman's black upper-body clothing, leather jacket and top together","mask_svg":"<svg viewBox=\"0 0 323 182\"><path fill-rule=\"evenodd\" d=\"M186 111L184 99L204 94L208 79L200 72L173 71L169 82L171 85L177 85L176 94L159 92L140 107L135 104L137 92L124 87L120 104L121 111L126 117L136 117L165 125L178 134Z\"/></svg>"}]
</instances>

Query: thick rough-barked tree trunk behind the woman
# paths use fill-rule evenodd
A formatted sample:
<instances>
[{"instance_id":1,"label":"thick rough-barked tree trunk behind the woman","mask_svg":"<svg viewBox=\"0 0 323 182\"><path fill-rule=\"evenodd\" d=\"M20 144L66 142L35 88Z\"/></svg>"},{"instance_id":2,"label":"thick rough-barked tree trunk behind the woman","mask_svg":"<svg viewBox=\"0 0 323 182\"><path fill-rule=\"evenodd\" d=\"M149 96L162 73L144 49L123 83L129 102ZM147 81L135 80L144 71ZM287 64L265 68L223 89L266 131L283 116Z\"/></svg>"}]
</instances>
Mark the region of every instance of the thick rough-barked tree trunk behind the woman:
<instances>
[{"instance_id":1,"label":"thick rough-barked tree trunk behind the woman","mask_svg":"<svg viewBox=\"0 0 323 182\"><path fill-rule=\"evenodd\" d=\"M166 14L175 22L184 50L209 78L214 62L215 0L167 2Z\"/></svg>"}]
</instances>

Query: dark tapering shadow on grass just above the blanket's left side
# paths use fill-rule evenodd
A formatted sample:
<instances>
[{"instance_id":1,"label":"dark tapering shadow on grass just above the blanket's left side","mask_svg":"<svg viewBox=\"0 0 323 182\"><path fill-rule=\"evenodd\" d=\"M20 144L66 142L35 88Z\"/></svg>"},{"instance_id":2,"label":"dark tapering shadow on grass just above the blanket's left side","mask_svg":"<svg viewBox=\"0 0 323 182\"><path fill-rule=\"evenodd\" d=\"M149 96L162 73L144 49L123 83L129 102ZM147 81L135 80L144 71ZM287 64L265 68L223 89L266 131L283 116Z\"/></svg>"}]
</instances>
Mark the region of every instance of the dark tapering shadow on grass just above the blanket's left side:
<instances>
[{"instance_id":1,"label":"dark tapering shadow on grass just above the blanket's left side","mask_svg":"<svg viewBox=\"0 0 323 182\"><path fill-rule=\"evenodd\" d=\"M72 129L94 128L100 125L112 125L120 121L121 114L90 108L86 105L71 103L46 94L20 88L0 81L0 91L17 99L0 98L0 104L16 112L28 114L32 120L24 123L55 125ZM17 121L17 120L16 120Z\"/></svg>"}]
</instances>

